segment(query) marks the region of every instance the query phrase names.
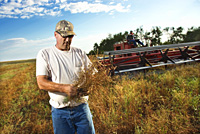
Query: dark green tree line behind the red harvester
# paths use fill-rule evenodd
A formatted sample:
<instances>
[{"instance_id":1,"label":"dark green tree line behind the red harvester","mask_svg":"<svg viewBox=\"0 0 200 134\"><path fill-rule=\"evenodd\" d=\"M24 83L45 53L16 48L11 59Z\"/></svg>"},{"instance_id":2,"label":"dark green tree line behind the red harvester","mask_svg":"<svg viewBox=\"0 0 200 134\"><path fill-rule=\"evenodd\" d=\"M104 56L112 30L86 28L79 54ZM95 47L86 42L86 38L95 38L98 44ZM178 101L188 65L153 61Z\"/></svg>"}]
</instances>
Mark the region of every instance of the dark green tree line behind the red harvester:
<instances>
[{"instance_id":1,"label":"dark green tree line behind the red harvester","mask_svg":"<svg viewBox=\"0 0 200 134\"><path fill-rule=\"evenodd\" d=\"M176 44L191 41L200 41L200 26L191 27L187 29L186 34L183 33L183 27L166 27L161 29L160 27L152 27L151 31L145 32L142 27L134 30L134 35L136 38L140 39L147 46L155 45L166 45L166 44ZM95 43L93 50L89 52L89 55L102 54L104 51L114 50L113 45L117 42L126 41L126 37L129 34L128 31L124 33L118 33L115 35L109 34L106 39L103 39L100 44ZM162 42L161 37L167 35L167 40Z\"/></svg>"}]
</instances>

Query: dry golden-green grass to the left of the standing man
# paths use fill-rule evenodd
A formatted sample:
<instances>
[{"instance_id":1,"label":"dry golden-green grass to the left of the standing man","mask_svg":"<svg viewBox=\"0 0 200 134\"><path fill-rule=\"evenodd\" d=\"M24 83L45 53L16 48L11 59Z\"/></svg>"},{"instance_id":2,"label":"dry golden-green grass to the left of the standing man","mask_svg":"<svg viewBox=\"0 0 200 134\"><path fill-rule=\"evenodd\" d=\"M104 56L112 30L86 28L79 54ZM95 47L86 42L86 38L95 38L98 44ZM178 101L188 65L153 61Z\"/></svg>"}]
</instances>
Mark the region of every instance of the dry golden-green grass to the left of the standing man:
<instances>
[{"instance_id":1,"label":"dry golden-green grass to the left of the standing man","mask_svg":"<svg viewBox=\"0 0 200 134\"><path fill-rule=\"evenodd\" d=\"M0 68L1 133L52 133L48 94L37 87L35 63Z\"/></svg>"}]
</instances>

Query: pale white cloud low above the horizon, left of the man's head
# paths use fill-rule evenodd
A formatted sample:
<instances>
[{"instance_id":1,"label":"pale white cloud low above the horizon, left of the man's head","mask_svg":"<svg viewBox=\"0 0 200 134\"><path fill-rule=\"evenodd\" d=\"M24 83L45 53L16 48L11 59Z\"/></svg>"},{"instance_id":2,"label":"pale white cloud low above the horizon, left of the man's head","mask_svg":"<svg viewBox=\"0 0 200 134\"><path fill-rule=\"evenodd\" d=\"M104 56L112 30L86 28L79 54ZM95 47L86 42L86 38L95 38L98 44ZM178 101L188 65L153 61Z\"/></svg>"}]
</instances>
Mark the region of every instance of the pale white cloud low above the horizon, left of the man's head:
<instances>
[{"instance_id":1,"label":"pale white cloud low above the horizon, left of the man's head","mask_svg":"<svg viewBox=\"0 0 200 134\"><path fill-rule=\"evenodd\" d=\"M54 44L54 37L39 40L25 38L0 40L0 61L36 58L40 49Z\"/></svg>"}]
</instances>

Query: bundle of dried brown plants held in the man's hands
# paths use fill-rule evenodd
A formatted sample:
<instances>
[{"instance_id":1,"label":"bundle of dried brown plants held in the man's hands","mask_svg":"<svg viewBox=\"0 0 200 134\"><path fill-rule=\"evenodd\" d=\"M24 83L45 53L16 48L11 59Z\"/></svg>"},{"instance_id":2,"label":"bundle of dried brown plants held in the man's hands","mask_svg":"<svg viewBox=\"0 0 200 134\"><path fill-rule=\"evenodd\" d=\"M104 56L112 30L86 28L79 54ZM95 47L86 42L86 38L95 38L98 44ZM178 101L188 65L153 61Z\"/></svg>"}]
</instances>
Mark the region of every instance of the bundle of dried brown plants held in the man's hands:
<instances>
[{"instance_id":1,"label":"bundle of dried brown plants held in the man's hands","mask_svg":"<svg viewBox=\"0 0 200 134\"><path fill-rule=\"evenodd\" d=\"M109 74L112 69L111 66L105 66L98 61L94 61L87 69L81 70L78 79L74 81L77 95L69 99L87 96L101 88L101 86L111 84L113 80Z\"/></svg>"}]
</instances>

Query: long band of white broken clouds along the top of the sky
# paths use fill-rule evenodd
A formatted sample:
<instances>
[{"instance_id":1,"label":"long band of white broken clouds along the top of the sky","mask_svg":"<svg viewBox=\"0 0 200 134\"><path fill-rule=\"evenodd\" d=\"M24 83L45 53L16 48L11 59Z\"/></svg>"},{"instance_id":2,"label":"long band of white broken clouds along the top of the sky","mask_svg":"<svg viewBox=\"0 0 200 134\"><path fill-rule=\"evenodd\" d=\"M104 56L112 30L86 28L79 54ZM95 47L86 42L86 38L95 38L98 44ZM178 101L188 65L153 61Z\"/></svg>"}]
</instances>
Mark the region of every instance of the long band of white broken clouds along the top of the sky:
<instances>
[{"instance_id":1,"label":"long band of white broken clouds along the top of the sky","mask_svg":"<svg viewBox=\"0 0 200 134\"><path fill-rule=\"evenodd\" d=\"M71 13L128 12L129 7L121 3L104 4L102 0L68 2L67 0L4 0L1 3L0 18L31 18L33 16L61 15L62 11Z\"/></svg>"}]
</instances>

